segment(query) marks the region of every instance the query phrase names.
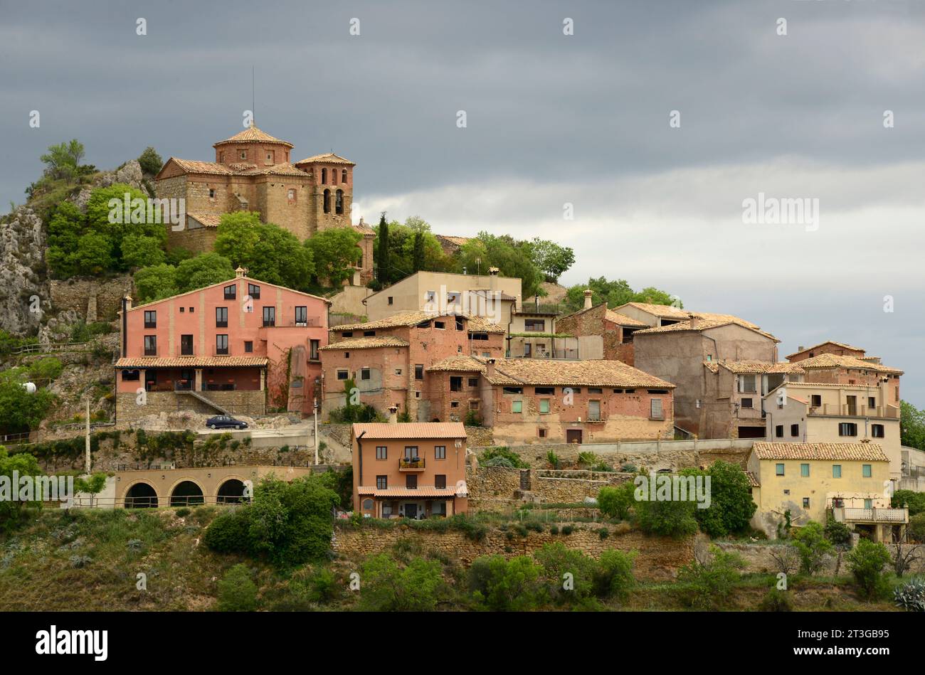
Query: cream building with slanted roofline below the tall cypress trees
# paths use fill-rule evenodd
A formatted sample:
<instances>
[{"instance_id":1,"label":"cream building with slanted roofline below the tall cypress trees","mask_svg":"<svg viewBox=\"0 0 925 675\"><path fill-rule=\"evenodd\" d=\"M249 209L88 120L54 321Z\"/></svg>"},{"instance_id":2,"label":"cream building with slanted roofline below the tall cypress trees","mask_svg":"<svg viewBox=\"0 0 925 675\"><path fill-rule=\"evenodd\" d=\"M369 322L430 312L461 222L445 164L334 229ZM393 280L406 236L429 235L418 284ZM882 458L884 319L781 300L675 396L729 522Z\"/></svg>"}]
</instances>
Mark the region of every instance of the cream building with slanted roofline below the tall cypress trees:
<instances>
[{"instance_id":1,"label":"cream building with slanted roofline below the tall cypress trees","mask_svg":"<svg viewBox=\"0 0 925 675\"><path fill-rule=\"evenodd\" d=\"M492 267L486 275L417 272L364 299L369 321L400 312L433 311L482 316L507 330L521 308L521 280L499 276Z\"/></svg>"}]
</instances>

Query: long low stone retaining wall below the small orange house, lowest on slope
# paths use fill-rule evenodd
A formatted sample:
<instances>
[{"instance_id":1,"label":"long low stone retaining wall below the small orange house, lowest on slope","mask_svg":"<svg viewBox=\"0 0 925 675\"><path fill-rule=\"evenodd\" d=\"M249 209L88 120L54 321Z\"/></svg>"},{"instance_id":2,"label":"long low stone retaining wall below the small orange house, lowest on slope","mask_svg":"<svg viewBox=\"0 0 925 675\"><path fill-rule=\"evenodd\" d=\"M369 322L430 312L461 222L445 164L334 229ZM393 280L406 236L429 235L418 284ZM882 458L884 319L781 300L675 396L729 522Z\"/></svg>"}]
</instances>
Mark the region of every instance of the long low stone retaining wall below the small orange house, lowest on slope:
<instances>
[{"instance_id":1,"label":"long low stone retaining wall below the small orange house, lowest on slope","mask_svg":"<svg viewBox=\"0 0 925 675\"><path fill-rule=\"evenodd\" d=\"M495 527L489 529L483 541L475 542L462 532L441 533L401 525L391 528L357 528L344 523L339 524L335 531L334 550L340 556L359 560L364 556L380 553L400 541L411 541L425 548L441 551L468 566L480 556L498 554L512 558L532 554L546 544L561 542L595 558L600 556L601 551L610 548L638 551L639 555L635 558L635 576L647 581L672 581L678 568L694 559L693 539L675 540L647 536L629 530L625 524L577 523L573 527L572 534L551 534L547 528L541 533L528 532L525 537L515 534L512 539L508 538L507 532ZM601 528L606 528L609 533L606 539L602 539L598 534Z\"/></svg>"}]
</instances>

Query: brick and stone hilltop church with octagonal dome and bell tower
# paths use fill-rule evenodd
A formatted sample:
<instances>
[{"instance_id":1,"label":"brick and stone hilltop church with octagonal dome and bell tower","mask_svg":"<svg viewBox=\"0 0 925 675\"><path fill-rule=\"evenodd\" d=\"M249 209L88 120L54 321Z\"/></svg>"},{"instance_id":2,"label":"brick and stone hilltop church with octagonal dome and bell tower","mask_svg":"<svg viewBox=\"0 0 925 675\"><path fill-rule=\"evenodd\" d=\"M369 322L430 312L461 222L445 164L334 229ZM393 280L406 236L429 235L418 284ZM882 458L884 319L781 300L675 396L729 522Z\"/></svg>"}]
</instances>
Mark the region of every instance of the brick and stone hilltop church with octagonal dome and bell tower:
<instances>
[{"instance_id":1,"label":"brick and stone hilltop church with octagonal dome and bell tower","mask_svg":"<svg viewBox=\"0 0 925 675\"><path fill-rule=\"evenodd\" d=\"M211 251L223 214L254 211L300 241L330 227L354 227L363 258L356 285L373 278L375 232L362 222L352 225L353 168L335 153L292 161L292 143L252 126L213 145L215 161L170 157L154 177L159 199L186 200L186 215L177 231L167 226L167 247Z\"/></svg>"}]
</instances>

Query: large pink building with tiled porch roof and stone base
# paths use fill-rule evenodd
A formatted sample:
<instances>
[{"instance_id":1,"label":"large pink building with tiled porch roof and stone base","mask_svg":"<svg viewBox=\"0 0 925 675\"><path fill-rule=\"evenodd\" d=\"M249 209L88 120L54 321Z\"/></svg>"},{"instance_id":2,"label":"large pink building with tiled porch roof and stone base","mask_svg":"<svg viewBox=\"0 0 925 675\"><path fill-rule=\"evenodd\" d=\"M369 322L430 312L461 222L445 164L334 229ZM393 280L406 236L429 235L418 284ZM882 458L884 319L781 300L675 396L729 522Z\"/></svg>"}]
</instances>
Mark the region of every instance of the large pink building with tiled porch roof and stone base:
<instances>
[{"instance_id":1,"label":"large pink building with tiled porch roof and stone base","mask_svg":"<svg viewBox=\"0 0 925 675\"><path fill-rule=\"evenodd\" d=\"M138 307L126 297L117 422L160 411L310 413L329 305L240 268L234 279Z\"/></svg>"}]
</instances>

